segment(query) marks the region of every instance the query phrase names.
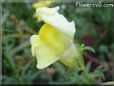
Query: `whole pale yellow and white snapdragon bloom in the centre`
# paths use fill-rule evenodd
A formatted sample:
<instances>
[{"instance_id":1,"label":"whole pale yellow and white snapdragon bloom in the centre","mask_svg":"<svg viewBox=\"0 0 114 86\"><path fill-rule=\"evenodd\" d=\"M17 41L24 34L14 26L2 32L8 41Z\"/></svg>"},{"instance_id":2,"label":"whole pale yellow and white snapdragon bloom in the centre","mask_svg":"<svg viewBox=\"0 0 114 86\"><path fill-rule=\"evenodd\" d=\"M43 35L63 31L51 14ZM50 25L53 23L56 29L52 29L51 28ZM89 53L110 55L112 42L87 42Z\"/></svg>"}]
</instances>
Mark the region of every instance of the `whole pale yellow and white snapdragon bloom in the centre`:
<instances>
[{"instance_id":1,"label":"whole pale yellow and white snapdragon bloom in the centre","mask_svg":"<svg viewBox=\"0 0 114 86\"><path fill-rule=\"evenodd\" d=\"M36 10L37 15L45 22L39 34L30 38L32 55L37 59L37 68L43 69L60 61L68 67L83 69L82 55L73 43L75 23L69 22L58 10L58 6L40 7Z\"/></svg>"}]
</instances>

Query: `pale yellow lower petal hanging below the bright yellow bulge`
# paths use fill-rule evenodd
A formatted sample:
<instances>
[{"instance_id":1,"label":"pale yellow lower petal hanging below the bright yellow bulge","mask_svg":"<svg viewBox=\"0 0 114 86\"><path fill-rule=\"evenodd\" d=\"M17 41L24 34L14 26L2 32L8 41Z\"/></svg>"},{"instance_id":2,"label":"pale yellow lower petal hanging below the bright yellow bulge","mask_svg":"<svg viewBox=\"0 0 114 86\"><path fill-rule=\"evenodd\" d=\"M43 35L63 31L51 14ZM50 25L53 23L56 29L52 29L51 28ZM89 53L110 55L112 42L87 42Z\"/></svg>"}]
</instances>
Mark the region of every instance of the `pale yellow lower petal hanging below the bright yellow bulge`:
<instances>
[{"instance_id":1,"label":"pale yellow lower petal hanging below the bright yellow bulge","mask_svg":"<svg viewBox=\"0 0 114 86\"><path fill-rule=\"evenodd\" d=\"M35 48L35 55L38 69L46 68L60 58L52 48L44 43Z\"/></svg>"}]
</instances>

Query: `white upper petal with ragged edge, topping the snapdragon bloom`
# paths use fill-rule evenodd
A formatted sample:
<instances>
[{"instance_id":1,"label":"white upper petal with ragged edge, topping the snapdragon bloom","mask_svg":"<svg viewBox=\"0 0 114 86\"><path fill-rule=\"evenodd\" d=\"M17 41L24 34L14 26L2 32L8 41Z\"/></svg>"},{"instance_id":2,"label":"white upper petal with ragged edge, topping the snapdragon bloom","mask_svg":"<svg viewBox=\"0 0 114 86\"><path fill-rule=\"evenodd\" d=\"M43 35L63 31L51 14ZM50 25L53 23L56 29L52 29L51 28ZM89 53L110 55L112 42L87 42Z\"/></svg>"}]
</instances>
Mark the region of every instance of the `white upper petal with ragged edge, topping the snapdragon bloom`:
<instances>
[{"instance_id":1,"label":"white upper petal with ragged edge, topping the snapdragon bloom","mask_svg":"<svg viewBox=\"0 0 114 86\"><path fill-rule=\"evenodd\" d=\"M43 21L58 29L69 38L73 39L75 34L75 23L73 21L69 22L63 15L57 12L58 10L59 7L41 7L37 8L36 12Z\"/></svg>"}]
</instances>

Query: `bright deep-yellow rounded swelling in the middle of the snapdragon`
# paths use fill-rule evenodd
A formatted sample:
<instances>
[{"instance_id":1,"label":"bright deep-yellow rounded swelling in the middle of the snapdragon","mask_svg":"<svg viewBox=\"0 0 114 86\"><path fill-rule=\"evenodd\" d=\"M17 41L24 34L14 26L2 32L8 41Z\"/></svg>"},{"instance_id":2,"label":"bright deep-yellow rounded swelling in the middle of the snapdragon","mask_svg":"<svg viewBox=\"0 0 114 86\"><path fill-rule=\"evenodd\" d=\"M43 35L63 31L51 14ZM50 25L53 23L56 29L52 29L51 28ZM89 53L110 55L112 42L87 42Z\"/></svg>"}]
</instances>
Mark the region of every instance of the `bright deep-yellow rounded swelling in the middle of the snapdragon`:
<instances>
[{"instance_id":1,"label":"bright deep-yellow rounded swelling in the middle of the snapdragon","mask_svg":"<svg viewBox=\"0 0 114 86\"><path fill-rule=\"evenodd\" d=\"M60 31L53 28L49 24L44 24L39 31L40 39L47 43L58 54L62 53L66 48L66 40Z\"/></svg>"}]
</instances>

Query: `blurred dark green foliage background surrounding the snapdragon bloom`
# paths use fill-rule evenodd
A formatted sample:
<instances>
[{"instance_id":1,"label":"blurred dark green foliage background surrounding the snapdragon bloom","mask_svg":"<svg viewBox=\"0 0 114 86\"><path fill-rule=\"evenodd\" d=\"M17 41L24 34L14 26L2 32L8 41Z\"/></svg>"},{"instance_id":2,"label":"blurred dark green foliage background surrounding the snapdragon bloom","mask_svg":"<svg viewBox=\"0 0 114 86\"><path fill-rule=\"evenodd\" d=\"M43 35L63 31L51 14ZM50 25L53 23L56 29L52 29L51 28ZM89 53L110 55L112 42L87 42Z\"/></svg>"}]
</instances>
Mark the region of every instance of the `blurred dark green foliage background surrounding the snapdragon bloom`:
<instances>
[{"instance_id":1,"label":"blurred dark green foliage background surrounding the snapdragon bloom","mask_svg":"<svg viewBox=\"0 0 114 86\"><path fill-rule=\"evenodd\" d=\"M59 12L69 21L75 21L74 41L95 49L96 53L83 53L84 72L67 69L59 62L46 69L36 68L29 39L44 23L35 16L35 8L42 5L60 6ZM114 7L81 8L74 2L64 1L2 3L2 84L90 84L104 81L114 81Z\"/></svg>"}]
</instances>

